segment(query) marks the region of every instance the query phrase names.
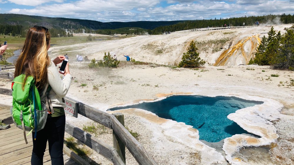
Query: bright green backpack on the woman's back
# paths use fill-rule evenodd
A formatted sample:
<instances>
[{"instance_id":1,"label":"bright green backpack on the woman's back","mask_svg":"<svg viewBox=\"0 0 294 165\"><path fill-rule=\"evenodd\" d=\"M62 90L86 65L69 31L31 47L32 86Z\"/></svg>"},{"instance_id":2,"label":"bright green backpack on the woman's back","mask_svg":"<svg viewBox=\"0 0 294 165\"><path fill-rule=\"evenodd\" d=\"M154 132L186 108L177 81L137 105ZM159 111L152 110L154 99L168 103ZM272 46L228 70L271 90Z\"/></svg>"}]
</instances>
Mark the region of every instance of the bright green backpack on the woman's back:
<instances>
[{"instance_id":1,"label":"bright green backpack on the woman's back","mask_svg":"<svg viewBox=\"0 0 294 165\"><path fill-rule=\"evenodd\" d=\"M35 86L35 80L32 76L27 77L24 90L22 89L24 78L25 75L21 74L12 81L11 91L13 99L10 113L16 127L24 131L24 139L26 144L28 144L26 136L34 131L34 140L36 140L37 131L44 128L48 108L46 104L41 102L39 91ZM49 86L47 93L49 93L50 89L51 87ZM29 131L27 135L26 131Z\"/></svg>"}]
</instances>

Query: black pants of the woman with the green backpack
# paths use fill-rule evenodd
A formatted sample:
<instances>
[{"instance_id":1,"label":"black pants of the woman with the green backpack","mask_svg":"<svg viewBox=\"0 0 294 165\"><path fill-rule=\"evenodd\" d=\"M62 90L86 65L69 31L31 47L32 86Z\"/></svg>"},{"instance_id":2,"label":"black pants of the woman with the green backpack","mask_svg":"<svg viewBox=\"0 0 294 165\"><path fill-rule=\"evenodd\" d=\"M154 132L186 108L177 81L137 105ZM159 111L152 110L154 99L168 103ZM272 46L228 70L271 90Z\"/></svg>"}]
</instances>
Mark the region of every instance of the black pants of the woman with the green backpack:
<instances>
[{"instance_id":1,"label":"black pants of the woman with the green backpack","mask_svg":"<svg viewBox=\"0 0 294 165\"><path fill-rule=\"evenodd\" d=\"M32 165L43 164L43 156L48 140L49 154L51 164L63 165L63 142L65 131L65 115L47 118L46 125L43 130L37 132L37 138L34 140L35 132L33 132L33 152L31 157Z\"/></svg>"}]
</instances>

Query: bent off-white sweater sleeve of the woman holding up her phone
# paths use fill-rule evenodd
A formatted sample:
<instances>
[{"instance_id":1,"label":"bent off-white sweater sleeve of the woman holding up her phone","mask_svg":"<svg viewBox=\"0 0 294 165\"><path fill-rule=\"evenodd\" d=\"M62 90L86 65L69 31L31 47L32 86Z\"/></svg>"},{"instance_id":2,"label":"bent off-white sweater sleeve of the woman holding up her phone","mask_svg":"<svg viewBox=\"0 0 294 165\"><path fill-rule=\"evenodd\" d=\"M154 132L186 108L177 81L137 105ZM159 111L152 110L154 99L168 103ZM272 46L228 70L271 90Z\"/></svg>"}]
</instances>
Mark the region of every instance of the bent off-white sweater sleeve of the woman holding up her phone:
<instances>
[{"instance_id":1,"label":"bent off-white sweater sleeve of the woman holding up her phone","mask_svg":"<svg viewBox=\"0 0 294 165\"><path fill-rule=\"evenodd\" d=\"M66 74L64 79L61 80L60 73L57 71L53 61L51 61L47 72L48 83L52 90L56 93L57 96L61 98L65 97L69 91L69 87L71 86L71 75Z\"/></svg>"}]
</instances>

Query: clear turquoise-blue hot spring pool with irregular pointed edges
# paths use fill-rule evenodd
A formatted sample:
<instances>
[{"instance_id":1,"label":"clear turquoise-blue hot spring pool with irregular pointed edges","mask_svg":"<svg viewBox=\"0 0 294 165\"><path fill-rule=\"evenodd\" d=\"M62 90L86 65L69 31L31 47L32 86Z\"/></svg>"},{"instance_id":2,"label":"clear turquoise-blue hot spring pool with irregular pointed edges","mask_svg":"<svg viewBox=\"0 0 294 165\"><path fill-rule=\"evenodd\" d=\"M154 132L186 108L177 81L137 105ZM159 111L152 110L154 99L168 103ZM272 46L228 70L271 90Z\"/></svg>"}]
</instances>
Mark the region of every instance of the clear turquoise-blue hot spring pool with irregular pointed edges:
<instances>
[{"instance_id":1,"label":"clear turquoise-blue hot spring pool with irregular pointed edges","mask_svg":"<svg viewBox=\"0 0 294 165\"><path fill-rule=\"evenodd\" d=\"M140 108L155 113L161 118L192 125L199 131L201 140L219 142L235 134L248 133L227 116L238 109L262 104L237 97L170 96L156 102L114 107L109 110Z\"/></svg>"}]
</instances>

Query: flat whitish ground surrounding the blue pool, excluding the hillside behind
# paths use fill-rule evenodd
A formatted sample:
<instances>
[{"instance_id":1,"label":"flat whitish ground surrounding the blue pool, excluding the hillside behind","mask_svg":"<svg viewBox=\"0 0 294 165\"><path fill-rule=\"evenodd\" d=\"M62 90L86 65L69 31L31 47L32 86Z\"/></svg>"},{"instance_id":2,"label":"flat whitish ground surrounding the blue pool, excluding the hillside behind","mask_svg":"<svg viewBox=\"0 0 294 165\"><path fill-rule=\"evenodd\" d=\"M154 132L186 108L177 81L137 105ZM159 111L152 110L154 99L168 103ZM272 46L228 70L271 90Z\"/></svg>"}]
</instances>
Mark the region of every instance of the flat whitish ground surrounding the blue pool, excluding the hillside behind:
<instances>
[{"instance_id":1,"label":"flat whitish ground surrounding the blue pool, excluding the hillside behind","mask_svg":"<svg viewBox=\"0 0 294 165\"><path fill-rule=\"evenodd\" d=\"M67 96L101 110L106 110L119 103L131 104L137 103L139 100L158 99L165 96L157 95L158 93L185 92L205 96L237 96L249 100L264 101L265 103L262 105L244 108L228 116L248 132L261 136L259 139L244 135L226 138L223 149L227 154L226 160L232 164L238 164L238 162L246 164L246 160L242 160L240 156L234 156L240 148L250 145L266 145L277 140L279 130L271 123L272 120L283 119L290 123L294 121L294 87L287 86L290 83L290 78L294 76L293 71L272 70L267 66L255 65L208 66L199 70L172 69L156 67L156 65L125 65L109 70L93 70L88 69L86 65L87 63L71 63L71 73L75 77L73 80L77 82L72 82ZM255 70L246 70L246 68ZM265 72L261 72L262 70ZM228 74L233 76L227 76ZM270 74L279 74L280 76L270 77L270 80L266 80ZM7 80L2 79L2 81ZM81 83L85 83L87 86L81 87ZM10 86L9 83L1 84L6 88ZM93 85L99 86L100 84L101 87L98 91L93 90ZM142 84L150 84L150 86L142 86ZM155 87L157 84L159 87ZM3 95L1 103L11 104L11 97ZM279 113L283 106L290 109L288 115ZM158 118L145 110L124 110L123 113L126 118L126 126L141 135L139 142L159 164L226 164L221 153L198 140L198 131L192 129L192 126ZM67 121L80 128L90 122L81 116L78 119L68 116ZM293 137L293 129L289 129L281 134ZM111 145L111 134L97 135L97 137ZM290 139L288 143L293 145L293 139L292 142ZM288 149L291 150L293 147ZM293 164L293 151L283 152L270 155L270 158L277 161L278 164L283 161ZM285 152L289 152L288 157L285 157ZM92 158L96 161L110 164L96 154L93 155ZM277 159L277 156L283 159ZM127 164L136 164L129 153L127 154ZM261 164L266 163L262 162Z\"/></svg>"}]
</instances>

